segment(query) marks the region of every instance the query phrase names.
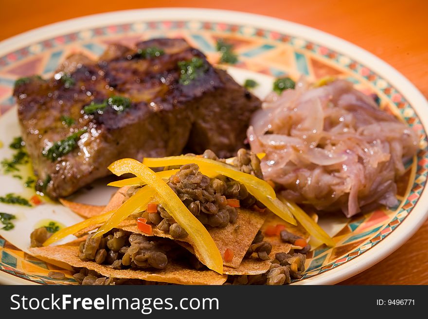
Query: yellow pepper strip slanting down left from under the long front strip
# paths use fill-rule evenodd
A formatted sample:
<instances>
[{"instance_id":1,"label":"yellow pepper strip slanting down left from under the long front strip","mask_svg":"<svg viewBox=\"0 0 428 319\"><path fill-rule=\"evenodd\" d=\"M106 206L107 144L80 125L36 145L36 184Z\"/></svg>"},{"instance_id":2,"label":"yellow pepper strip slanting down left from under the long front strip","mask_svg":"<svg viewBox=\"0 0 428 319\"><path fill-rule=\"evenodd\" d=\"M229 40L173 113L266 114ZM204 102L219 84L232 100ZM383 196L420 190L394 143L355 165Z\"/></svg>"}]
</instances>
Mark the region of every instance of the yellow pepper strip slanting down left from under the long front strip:
<instances>
[{"instance_id":1,"label":"yellow pepper strip slanting down left from under the long front strip","mask_svg":"<svg viewBox=\"0 0 428 319\"><path fill-rule=\"evenodd\" d=\"M153 174L156 176L154 172ZM161 178L159 179L162 180ZM155 193L156 191L152 187L147 185L143 186L143 188L139 189L134 195L126 200L92 237L95 238L104 235L112 228L119 225L121 221L129 215L146 210L147 204L152 200Z\"/></svg>"}]
</instances>

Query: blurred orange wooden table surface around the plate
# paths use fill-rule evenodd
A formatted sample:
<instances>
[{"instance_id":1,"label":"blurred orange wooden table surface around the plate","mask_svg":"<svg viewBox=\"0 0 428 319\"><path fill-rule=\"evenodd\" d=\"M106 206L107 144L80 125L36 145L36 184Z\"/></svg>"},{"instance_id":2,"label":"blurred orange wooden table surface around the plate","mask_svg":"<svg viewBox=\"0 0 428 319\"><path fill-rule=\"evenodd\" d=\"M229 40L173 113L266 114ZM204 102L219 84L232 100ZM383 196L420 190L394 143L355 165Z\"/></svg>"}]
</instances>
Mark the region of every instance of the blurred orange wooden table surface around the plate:
<instances>
[{"instance_id":1,"label":"blurred orange wooden table surface around the plate","mask_svg":"<svg viewBox=\"0 0 428 319\"><path fill-rule=\"evenodd\" d=\"M374 53L404 74L428 97L426 0L0 0L0 40L73 17L153 7L228 9L301 23ZM389 257L341 284L427 285L427 247L428 221Z\"/></svg>"}]
</instances>

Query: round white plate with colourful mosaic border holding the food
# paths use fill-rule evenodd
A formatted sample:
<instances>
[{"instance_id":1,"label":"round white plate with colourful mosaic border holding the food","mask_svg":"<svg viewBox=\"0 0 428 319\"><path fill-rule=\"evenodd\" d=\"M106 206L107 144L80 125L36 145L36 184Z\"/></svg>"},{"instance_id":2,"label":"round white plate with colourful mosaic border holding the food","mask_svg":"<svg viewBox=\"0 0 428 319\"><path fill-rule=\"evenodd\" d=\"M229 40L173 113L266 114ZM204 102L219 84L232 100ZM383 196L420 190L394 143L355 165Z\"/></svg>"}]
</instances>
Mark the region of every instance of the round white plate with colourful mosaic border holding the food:
<instances>
[{"instance_id":1,"label":"round white plate with colourful mosaic border holding the food","mask_svg":"<svg viewBox=\"0 0 428 319\"><path fill-rule=\"evenodd\" d=\"M310 271L295 284L335 284L349 278L400 247L427 218L428 195L423 190L428 163L424 130L427 127L428 103L414 85L384 61L347 41L284 20L240 12L189 8L121 11L55 23L2 41L0 110L3 113L6 109L9 111L0 117L0 140L4 143L0 149L0 159L10 156L7 145L19 135L16 108L12 107L14 102L10 100L12 85L18 74L28 75L25 73L36 70L44 76L51 75L54 67L70 52L82 50L96 57L108 41L119 40L130 44L138 37L146 39L157 36L184 37L204 51L212 62L218 58L213 48L216 37L236 41L240 63L230 67L229 71L241 83L248 77L256 78L262 84L255 91L260 97L269 91L275 76L288 73L297 77L303 72L314 79L321 71L328 72L330 68L337 71L340 77L356 82L359 88L377 93L382 105L410 121L420 131L422 151L415 161L419 161L421 167L418 172L416 164L409 168L410 175L414 176L401 206L381 216L376 227L372 222L371 228L366 228L372 231L368 235L361 231L361 225L367 226L369 220L373 221L373 214L352 220L339 217L321 219L321 225L330 235L336 235L339 246L344 247L345 242L356 235L363 234L361 238L364 241L348 251L341 251L341 254L338 250L320 248L308 259ZM3 87L5 89L1 90ZM9 175L0 176L0 196L22 190L22 183L17 179ZM80 192L74 199L92 204L104 203L112 191L98 183L93 190ZM93 202L92 198L96 201ZM411 207L405 209L409 202ZM71 225L81 218L55 203L31 209L0 203L0 211L18 216L14 230L0 230L0 235L9 242L5 247L0 245L0 282L22 284L21 278L25 278L39 283L53 283L47 277L49 270L43 270L43 267L51 266L44 265L37 269L38 266L32 263L30 267L29 257L21 251L26 251L29 234L38 220L49 218ZM354 226L356 223L359 226L353 226L345 235L337 234L352 222ZM17 248L11 247L10 243ZM15 276L7 275L7 272ZM67 275L70 277L69 273Z\"/></svg>"}]
</instances>

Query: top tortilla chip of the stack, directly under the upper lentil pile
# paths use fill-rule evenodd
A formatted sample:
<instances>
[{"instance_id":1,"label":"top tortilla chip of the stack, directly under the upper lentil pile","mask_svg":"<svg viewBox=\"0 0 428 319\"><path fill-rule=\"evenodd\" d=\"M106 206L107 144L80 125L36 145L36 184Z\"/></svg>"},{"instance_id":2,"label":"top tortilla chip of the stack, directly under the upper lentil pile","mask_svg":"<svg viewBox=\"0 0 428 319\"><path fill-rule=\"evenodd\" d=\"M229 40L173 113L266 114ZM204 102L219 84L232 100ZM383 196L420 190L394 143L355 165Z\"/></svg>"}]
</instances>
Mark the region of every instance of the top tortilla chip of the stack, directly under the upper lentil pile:
<instances>
[{"instance_id":1,"label":"top tortilla chip of the stack, directly under the upper lentil pile","mask_svg":"<svg viewBox=\"0 0 428 319\"><path fill-rule=\"evenodd\" d=\"M208 229L208 232L213 237L213 240L222 256L228 248L233 252L233 259L231 262L223 260L223 264L225 266L230 266L232 268L239 267L242 258L244 258L245 253L250 247L255 235L257 235L260 227L262 227L266 217L267 214L261 214L259 212L239 208L238 218L234 224L229 224L224 228L210 227ZM125 219L117 228L147 236L147 234L138 229L135 219ZM201 259L200 253L194 250L195 244L189 236L179 239L173 238L171 235L160 231L156 227L153 227L153 235L176 240L181 246L195 254L197 259L204 263ZM183 245L180 242L188 243L191 247Z\"/></svg>"}]
</instances>

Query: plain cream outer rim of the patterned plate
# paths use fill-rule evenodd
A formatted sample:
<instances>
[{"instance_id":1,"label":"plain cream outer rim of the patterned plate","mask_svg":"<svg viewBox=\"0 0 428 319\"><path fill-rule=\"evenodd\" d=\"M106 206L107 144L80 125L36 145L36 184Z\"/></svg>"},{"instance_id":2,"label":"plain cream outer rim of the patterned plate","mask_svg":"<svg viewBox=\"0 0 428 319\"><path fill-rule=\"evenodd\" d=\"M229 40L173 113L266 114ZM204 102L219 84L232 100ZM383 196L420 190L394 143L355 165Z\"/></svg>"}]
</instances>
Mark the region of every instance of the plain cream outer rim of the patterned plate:
<instances>
[{"instance_id":1,"label":"plain cream outer rim of the patterned plate","mask_svg":"<svg viewBox=\"0 0 428 319\"><path fill-rule=\"evenodd\" d=\"M107 24L132 23L136 21L143 22L153 20L154 17L156 17L156 20L158 21L179 18L188 21L195 19L206 22L250 25L252 27L263 28L269 31L277 31L280 33L285 32L292 36L302 37L305 40L325 45L329 49L346 54L358 63L370 67L376 74L387 79L388 82L393 87L398 88L403 97L409 101L409 104L417 113L423 127L428 127L427 100L406 77L385 61L334 35L294 22L256 14L196 8L136 9L103 13L57 22L3 40L0 42L0 56L5 55L10 51L17 50L23 45L29 45L31 43L36 43L43 39L48 39L65 33L81 31L87 28L101 27ZM298 281L295 284L328 285L338 283L372 267L377 262L398 249L419 229L426 218L428 218L428 208L424 208L428 204L428 194L425 191L425 188L426 186L422 190L418 203L412 208L412 213L402 221L399 227L394 229L394 236L386 236L375 245L376 248L374 247L360 254L357 256L358 258L348 260L346 262L346 267L336 267L334 269L330 269L326 273L320 273L314 277L306 278L302 282ZM5 276L2 276L3 274ZM0 282L10 284L18 281L19 278L16 279L17 280L5 272L0 272ZM25 284L29 283L25 281Z\"/></svg>"}]
</instances>

